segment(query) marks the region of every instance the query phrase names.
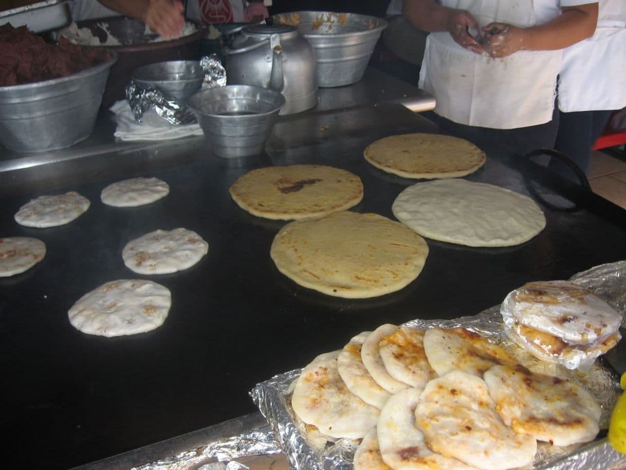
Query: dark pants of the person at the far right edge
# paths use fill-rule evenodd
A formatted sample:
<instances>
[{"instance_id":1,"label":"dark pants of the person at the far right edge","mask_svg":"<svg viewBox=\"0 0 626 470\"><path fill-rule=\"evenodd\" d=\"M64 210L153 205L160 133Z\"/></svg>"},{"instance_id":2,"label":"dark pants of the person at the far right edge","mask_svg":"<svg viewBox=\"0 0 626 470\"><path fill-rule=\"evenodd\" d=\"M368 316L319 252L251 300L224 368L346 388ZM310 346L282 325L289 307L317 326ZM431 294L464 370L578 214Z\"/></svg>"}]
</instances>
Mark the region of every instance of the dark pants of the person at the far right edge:
<instances>
[{"instance_id":1,"label":"dark pants of the person at the far right edge","mask_svg":"<svg viewBox=\"0 0 626 470\"><path fill-rule=\"evenodd\" d=\"M613 111L559 112L559 126L555 150L562 152L585 173L589 174L589 163L593 144L607 127ZM550 161L549 168L557 172L565 171L563 164Z\"/></svg>"}]
</instances>

